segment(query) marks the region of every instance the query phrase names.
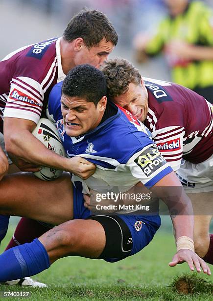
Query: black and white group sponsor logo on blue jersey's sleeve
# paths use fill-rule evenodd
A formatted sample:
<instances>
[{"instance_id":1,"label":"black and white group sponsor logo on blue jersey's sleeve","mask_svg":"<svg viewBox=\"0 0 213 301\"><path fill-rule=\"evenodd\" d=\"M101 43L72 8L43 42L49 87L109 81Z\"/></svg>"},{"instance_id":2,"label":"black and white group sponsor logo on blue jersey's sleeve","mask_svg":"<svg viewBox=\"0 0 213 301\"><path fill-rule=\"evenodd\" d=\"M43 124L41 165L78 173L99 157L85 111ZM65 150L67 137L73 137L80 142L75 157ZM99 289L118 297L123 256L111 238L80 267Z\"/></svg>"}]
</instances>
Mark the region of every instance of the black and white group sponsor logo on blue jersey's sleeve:
<instances>
[{"instance_id":1,"label":"black and white group sponsor logo on blue jersey's sleeve","mask_svg":"<svg viewBox=\"0 0 213 301\"><path fill-rule=\"evenodd\" d=\"M159 167L166 164L160 151L154 147L146 149L144 154L139 155L134 161L142 169L142 172L148 177Z\"/></svg>"}]
</instances>

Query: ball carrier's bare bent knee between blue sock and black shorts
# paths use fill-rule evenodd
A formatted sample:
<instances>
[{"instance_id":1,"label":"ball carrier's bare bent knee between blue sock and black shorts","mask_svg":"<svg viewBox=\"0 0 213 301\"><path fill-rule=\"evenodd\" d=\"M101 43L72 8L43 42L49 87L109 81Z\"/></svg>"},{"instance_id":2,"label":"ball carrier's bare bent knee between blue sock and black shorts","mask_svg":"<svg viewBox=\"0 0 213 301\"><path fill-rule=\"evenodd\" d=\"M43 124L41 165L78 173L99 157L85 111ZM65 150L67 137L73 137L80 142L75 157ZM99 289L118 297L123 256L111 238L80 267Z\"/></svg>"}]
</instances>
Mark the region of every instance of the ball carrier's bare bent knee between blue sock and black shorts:
<instances>
[{"instance_id":1,"label":"ball carrier's bare bent knee between blue sock and black shorts","mask_svg":"<svg viewBox=\"0 0 213 301\"><path fill-rule=\"evenodd\" d=\"M91 219L65 222L43 234L39 240L51 263L65 256L97 258L106 243L104 228Z\"/></svg>"}]
</instances>

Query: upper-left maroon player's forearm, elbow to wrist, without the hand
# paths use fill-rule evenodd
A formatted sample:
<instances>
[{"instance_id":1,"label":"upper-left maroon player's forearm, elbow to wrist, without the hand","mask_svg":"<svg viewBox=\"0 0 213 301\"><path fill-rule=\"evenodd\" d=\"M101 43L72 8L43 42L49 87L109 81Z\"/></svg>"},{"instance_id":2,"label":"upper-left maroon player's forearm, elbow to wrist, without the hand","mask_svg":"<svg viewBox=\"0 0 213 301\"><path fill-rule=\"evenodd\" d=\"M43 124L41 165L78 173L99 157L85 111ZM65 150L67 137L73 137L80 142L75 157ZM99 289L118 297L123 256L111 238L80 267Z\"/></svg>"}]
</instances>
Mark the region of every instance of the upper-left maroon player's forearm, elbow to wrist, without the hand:
<instances>
[{"instance_id":1,"label":"upper-left maroon player's forearm, elbow to wrist, without the hand","mask_svg":"<svg viewBox=\"0 0 213 301\"><path fill-rule=\"evenodd\" d=\"M67 168L69 158L62 157L48 150L28 130L16 131L13 134L5 135L5 147L8 153L27 162L70 171Z\"/></svg>"}]
</instances>

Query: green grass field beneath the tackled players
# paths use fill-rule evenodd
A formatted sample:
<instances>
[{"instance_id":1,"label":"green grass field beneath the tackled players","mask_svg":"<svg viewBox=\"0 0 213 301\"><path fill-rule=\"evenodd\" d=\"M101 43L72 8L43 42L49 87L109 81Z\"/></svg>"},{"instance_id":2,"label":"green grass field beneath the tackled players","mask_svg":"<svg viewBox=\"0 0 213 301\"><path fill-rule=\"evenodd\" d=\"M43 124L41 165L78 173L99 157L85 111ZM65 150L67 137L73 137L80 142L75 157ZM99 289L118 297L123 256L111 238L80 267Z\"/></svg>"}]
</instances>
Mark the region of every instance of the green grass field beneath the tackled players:
<instances>
[{"instance_id":1,"label":"green grass field beneath the tackled players","mask_svg":"<svg viewBox=\"0 0 213 301\"><path fill-rule=\"evenodd\" d=\"M2 242L6 246L12 229ZM4 291L30 292L29 300L213 300L212 293L180 295L168 286L175 275L189 271L187 264L170 268L175 253L171 230L163 226L140 253L110 264L80 257L64 258L33 278L48 284L47 289L0 286ZM210 266L213 267L213 266ZM212 268L213 273L213 268ZM213 276L202 275L213 282ZM13 300L23 298L12 297Z\"/></svg>"}]
</instances>

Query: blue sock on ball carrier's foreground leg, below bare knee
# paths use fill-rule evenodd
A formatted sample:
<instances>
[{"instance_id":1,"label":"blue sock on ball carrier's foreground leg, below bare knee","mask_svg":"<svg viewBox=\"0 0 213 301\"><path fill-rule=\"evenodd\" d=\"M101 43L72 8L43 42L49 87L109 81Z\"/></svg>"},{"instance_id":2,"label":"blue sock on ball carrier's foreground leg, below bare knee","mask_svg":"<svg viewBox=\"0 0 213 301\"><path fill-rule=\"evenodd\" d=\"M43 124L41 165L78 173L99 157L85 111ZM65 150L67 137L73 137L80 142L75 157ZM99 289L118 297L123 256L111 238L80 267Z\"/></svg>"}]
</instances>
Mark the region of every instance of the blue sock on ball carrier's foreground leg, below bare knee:
<instances>
[{"instance_id":1,"label":"blue sock on ball carrier's foreground leg, below bare knee","mask_svg":"<svg viewBox=\"0 0 213 301\"><path fill-rule=\"evenodd\" d=\"M44 245L35 239L0 255L0 282L32 276L48 269L49 257Z\"/></svg>"}]
</instances>

